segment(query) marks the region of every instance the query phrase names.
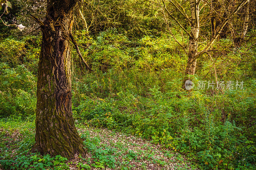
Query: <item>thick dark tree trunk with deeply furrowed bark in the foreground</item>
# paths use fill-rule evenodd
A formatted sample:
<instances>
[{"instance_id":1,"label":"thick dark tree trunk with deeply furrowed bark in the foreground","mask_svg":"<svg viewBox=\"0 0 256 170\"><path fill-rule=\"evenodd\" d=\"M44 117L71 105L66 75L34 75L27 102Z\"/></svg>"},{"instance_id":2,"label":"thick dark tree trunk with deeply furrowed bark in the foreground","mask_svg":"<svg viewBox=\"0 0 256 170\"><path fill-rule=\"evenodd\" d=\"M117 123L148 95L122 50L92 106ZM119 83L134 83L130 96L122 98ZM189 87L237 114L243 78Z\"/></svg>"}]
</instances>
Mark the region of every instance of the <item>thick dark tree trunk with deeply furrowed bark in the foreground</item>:
<instances>
[{"instance_id":1,"label":"thick dark tree trunk with deeply furrowed bark in the foreground","mask_svg":"<svg viewBox=\"0 0 256 170\"><path fill-rule=\"evenodd\" d=\"M77 0L51 0L42 26L36 105L35 149L73 158L84 154L71 108L69 33Z\"/></svg>"}]
</instances>

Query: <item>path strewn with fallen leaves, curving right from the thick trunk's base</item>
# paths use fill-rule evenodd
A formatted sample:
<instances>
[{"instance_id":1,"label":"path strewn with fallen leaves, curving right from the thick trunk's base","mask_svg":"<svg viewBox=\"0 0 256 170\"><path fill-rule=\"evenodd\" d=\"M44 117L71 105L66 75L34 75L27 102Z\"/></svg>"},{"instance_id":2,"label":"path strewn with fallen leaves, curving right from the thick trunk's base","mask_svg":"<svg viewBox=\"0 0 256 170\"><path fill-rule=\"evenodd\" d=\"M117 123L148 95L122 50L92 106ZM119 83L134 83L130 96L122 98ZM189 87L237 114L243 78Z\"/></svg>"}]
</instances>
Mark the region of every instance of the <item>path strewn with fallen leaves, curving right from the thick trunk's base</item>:
<instances>
[{"instance_id":1,"label":"path strewn with fallen leaves, curving right from the thick trunk's base","mask_svg":"<svg viewBox=\"0 0 256 170\"><path fill-rule=\"evenodd\" d=\"M99 139L99 147L110 147L116 151L113 153L115 161L126 165L131 170L176 170L176 169L194 169L191 163L181 154L174 152L170 148L165 148L161 144L153 144L150 140L140 137L116 132L108 129L99 129L94 127L78 128L78 133L83 137L85 134L87 140L95 141ZM93 157L92 152L88 151L88 159ZM117 156L118 155L118 156ZM125 162L125 164L123 164ZM93 163L93 161L88 162ZM76 169L75 167L73 167ZM96 170L98 168L91 169ZM106 168L106 170L126 169L124 166L115 168Z\"/></svg>"}]
</instances>

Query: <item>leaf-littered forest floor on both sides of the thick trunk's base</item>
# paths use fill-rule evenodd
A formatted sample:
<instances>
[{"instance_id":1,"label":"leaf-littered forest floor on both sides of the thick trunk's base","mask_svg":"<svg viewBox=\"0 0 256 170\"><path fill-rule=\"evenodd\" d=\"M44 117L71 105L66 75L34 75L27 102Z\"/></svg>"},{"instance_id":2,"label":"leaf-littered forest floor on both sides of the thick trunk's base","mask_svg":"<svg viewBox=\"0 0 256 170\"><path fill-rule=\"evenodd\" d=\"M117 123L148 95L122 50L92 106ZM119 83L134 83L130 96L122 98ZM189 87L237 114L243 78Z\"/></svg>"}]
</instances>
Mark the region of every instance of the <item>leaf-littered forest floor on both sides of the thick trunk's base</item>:
<instances>
[{"instance_id":1,"label":"leaf-littered forest floor on both sides of the thick trunk's base","mask_svg":"<svg viewBox=\"0 0 256 170\"><path fill-rule=\"evenodd\" d=\"M2 126L3 123L0 125L0 150L1 152L8 150L10 158L14 158L20 147L29 143L24 141L33 137L35 133L34 124L20 124L15 127L8 124ZM76 155L75 159L66 161L63 169L195 169L180 153L173 152L161 144L152 144L150 140L83 124L77 124L76 127L87 147L87 153L83 157ZM28 135L28 131L31 136ZM27 156L28 154L29 152ZM1 167L0 170L2 170Z\"/></svg>"}]
</instances>

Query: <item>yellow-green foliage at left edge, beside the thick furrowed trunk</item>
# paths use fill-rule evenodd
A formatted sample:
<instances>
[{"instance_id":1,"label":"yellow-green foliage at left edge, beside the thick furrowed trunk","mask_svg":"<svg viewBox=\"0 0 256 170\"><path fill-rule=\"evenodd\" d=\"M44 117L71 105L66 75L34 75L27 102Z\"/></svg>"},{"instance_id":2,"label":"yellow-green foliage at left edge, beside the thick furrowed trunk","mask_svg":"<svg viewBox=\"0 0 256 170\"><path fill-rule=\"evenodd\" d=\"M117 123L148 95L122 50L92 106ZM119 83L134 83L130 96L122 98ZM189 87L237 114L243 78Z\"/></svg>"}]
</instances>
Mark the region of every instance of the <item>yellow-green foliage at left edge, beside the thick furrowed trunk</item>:
<instances>
[{"instance_id":1,"label":"yellow-green foliage at left edge, beside the thick furrowed trunk","mask_svg":"<svg viewBox=\"0 0 256 170\"><path fill-rule=\"evenodd\" d=\"M0 118L33 119L36 112L37 37L0 42ZM37 44L37 45L36 45Z\"/></svg>"}]
</instances>

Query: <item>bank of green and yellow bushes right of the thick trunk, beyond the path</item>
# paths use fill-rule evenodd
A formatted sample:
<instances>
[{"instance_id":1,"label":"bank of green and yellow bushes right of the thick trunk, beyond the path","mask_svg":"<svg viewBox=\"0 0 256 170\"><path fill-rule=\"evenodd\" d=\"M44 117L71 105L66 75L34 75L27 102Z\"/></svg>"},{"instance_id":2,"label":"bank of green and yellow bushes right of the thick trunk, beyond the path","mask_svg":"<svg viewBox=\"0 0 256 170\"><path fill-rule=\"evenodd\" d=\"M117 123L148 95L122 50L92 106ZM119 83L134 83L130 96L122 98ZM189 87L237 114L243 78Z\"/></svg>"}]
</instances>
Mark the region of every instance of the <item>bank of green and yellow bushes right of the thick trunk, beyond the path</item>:
<instances>
[{"instance_id":1,"label":"bank of green and yellow bushes right of the thick trunk, beyond the path","mask_svg":"<svg viewBox=\"0 0 256 170\"><path fill-rule=\"evenodd\" d=\"M255 167L254 80L243 79L244 90L184 92L180 70L186 60L175 55L170 37L144 36L131 46L115 30L100 33L92 43L87 60L100 70L73 82L76 119L152 139L187 154L203 169ZM237 54L225 57L216 63L220 79L251 76L243 72L250 65L237 65ZM201 70L206 70L201 74L207 75L210 67L212 63L202 63Z\"/></svg>"}]
</instances>

